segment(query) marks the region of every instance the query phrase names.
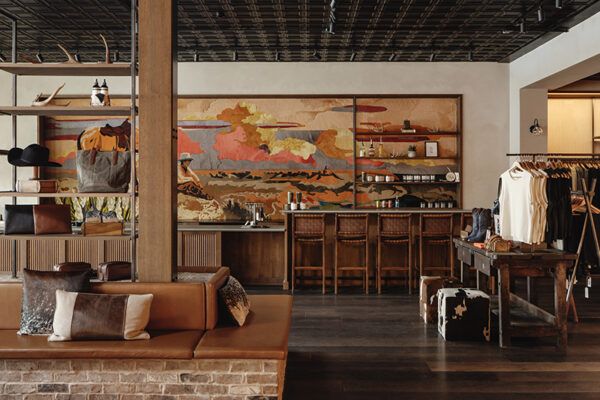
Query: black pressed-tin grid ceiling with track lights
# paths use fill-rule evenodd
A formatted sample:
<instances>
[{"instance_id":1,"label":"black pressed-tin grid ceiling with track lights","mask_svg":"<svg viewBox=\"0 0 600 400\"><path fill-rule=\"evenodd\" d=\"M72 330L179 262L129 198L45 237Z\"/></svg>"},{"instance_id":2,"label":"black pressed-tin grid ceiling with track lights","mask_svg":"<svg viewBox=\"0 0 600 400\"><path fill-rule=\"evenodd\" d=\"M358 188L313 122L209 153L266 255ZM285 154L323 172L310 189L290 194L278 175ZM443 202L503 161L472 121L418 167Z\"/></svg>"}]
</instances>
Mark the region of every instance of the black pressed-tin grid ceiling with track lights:
<instances>
[{"instance_id":1,"label":"black pressed-tin grid ceiling with track lights","mask_svg":"<svg viewBox=\"0 0 600 400\"><path fill-rule=\"evenodd\" d=\"M335 34L326 33L331 0L179 0L179 60L507 61L590 14L600 0L337 0ZM103 55L103 33L129 58L129 0L0 0L19 19L20 60L62 61L62 43L82 61ZM542 5L545 20L537 21ZM519 22L525 15L524 33ZM578 19L579 16L579 19ZM2 20L6 20L2 18ZM4 22L4 21L1 21ZM0 53L10 55L10 23ZM315 56L315 52L317 56Z\"/></svg>"}]
</instances>

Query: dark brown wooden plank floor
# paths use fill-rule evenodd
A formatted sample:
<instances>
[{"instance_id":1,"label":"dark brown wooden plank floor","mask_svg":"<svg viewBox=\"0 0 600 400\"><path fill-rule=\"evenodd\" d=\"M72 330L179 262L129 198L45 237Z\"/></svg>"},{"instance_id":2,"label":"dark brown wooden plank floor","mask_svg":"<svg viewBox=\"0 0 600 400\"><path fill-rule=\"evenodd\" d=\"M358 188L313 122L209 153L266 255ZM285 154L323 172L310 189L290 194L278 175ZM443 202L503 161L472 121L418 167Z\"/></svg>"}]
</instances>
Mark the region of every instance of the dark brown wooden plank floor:
<instances>
[{"instance_id":1,"label":"dark brown wooden plank floor","mask_svg":"<svg viewBox=\"0 0 600 400\"><path fill-rule=\"evenodd\" d=\"M296 294L284 398L600 399L596 295L578 296L592 318L570 326L560 355L549 339L445 342L416 295Z\"/></svg>"}]
</instances>

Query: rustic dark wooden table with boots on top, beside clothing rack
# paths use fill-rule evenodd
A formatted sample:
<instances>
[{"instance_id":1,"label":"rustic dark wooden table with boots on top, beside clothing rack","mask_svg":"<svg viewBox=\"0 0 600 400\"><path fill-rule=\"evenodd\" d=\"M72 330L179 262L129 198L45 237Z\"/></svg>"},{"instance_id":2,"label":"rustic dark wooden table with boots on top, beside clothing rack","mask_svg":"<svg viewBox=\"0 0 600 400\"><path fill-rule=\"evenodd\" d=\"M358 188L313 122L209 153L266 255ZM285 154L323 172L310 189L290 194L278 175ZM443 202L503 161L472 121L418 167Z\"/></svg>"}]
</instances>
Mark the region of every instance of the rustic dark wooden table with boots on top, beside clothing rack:
<instances>
[{"instance_id":1,"label":"rustic dark wooden table with boots on top, beside clothing rack","mask_svg":"<svg viewBox=\"0 0 600 400\"><path fill-rule=\"evenodd\" d=\"M461 264L461 279L468 282L468 268L479 275L498 277L498 319L500 347L508 347L511 337L556 336L559 350L567 347L567 269L573 266L575 254L560 250L514 250L496 253L479 249L462 239L454 239ZM554 315L530 301L510 292L510 279L524 277L554 277ZM528 285L529 287L529 285ZM528 290L529 297L529 290Z\"/></svg>"}]
</instances>

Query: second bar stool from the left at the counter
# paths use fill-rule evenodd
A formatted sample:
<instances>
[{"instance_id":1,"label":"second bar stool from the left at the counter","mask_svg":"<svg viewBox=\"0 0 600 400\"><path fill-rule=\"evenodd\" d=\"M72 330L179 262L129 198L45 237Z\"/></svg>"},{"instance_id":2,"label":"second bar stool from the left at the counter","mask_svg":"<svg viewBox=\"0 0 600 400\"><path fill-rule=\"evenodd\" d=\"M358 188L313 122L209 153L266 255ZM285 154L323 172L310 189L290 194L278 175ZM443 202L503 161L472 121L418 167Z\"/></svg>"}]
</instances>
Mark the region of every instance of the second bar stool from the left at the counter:
<instances>
[{"instance_id":1,"label":"second bar stool from the left at the counter","mask_svg":"<svg viewBox=\"0 0 600 400\"><path fill-rule=\"evenodd\" d=\"M369 294L369 219L367 214L336 214L335 216L335 282L334 292L338 293L338 275L340 271L362 271L363 286ZM363 247L365 252L364 265L340 265L339 246Z\"/></svg>"}]
</instances>

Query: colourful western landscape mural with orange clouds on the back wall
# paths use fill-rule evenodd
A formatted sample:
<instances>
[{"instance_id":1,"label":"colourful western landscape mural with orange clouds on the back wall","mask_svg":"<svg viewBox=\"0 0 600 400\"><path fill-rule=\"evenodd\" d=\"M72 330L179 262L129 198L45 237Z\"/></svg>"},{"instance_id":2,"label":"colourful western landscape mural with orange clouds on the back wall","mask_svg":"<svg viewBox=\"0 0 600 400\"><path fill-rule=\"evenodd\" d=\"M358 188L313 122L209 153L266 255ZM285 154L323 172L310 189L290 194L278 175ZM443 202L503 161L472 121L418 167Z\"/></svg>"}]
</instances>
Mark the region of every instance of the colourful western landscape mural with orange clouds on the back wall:
<instances>
[{"instance_id":1,"label":"colourful western landscape mural with orange clouds on the back wall","mask_svg":"<svg viewBox=\"0 0 600 400\"><path fill-rule=\"evenodd\" d=\"M73 105L87 102L69 100ZM114 105L124 101L113 99ZM377 98L358 99L357 104L358 135L367 132L386 135L397 130L404 119L414 121L415 126L420 124L424 130L457 130L457 99ZM183 98L178 108L180 220L245 219L245 203L260 202L265 205L267 217L279 221L288 191L302 192L309 206L352 206L355 181L352 98ZM118 139L103 136L100 129L106 124L119 126L125 120L126 117L45 119L42 130L45 144L50 148L51 158L64 165L46 169L45 176L59 179L60 190L73 190L77 186L77 138L82 135L86 140L97 140L109 150ZM429 134L425 132L424 137L429 139ZM457 154L455 142L440 139L440 154ZM422 145L420 141L419 144ZM400 148L404 143L397 146ZM448 166L444 160L427 162L440 173ZM423 166L423 162L412 160L359 160L358 164L359 170L390 173L418 171ZM426 192L431 190L436 195L447 191L434 187ZM384 191L359 188L357 200L359 204L370 204L378 198L406 193L405 188L395 186ZM456 197L456 193L442 194ZM126 201L103 204L119 208L121 215L127 214Z\"/></svg>"}]
</instances>

